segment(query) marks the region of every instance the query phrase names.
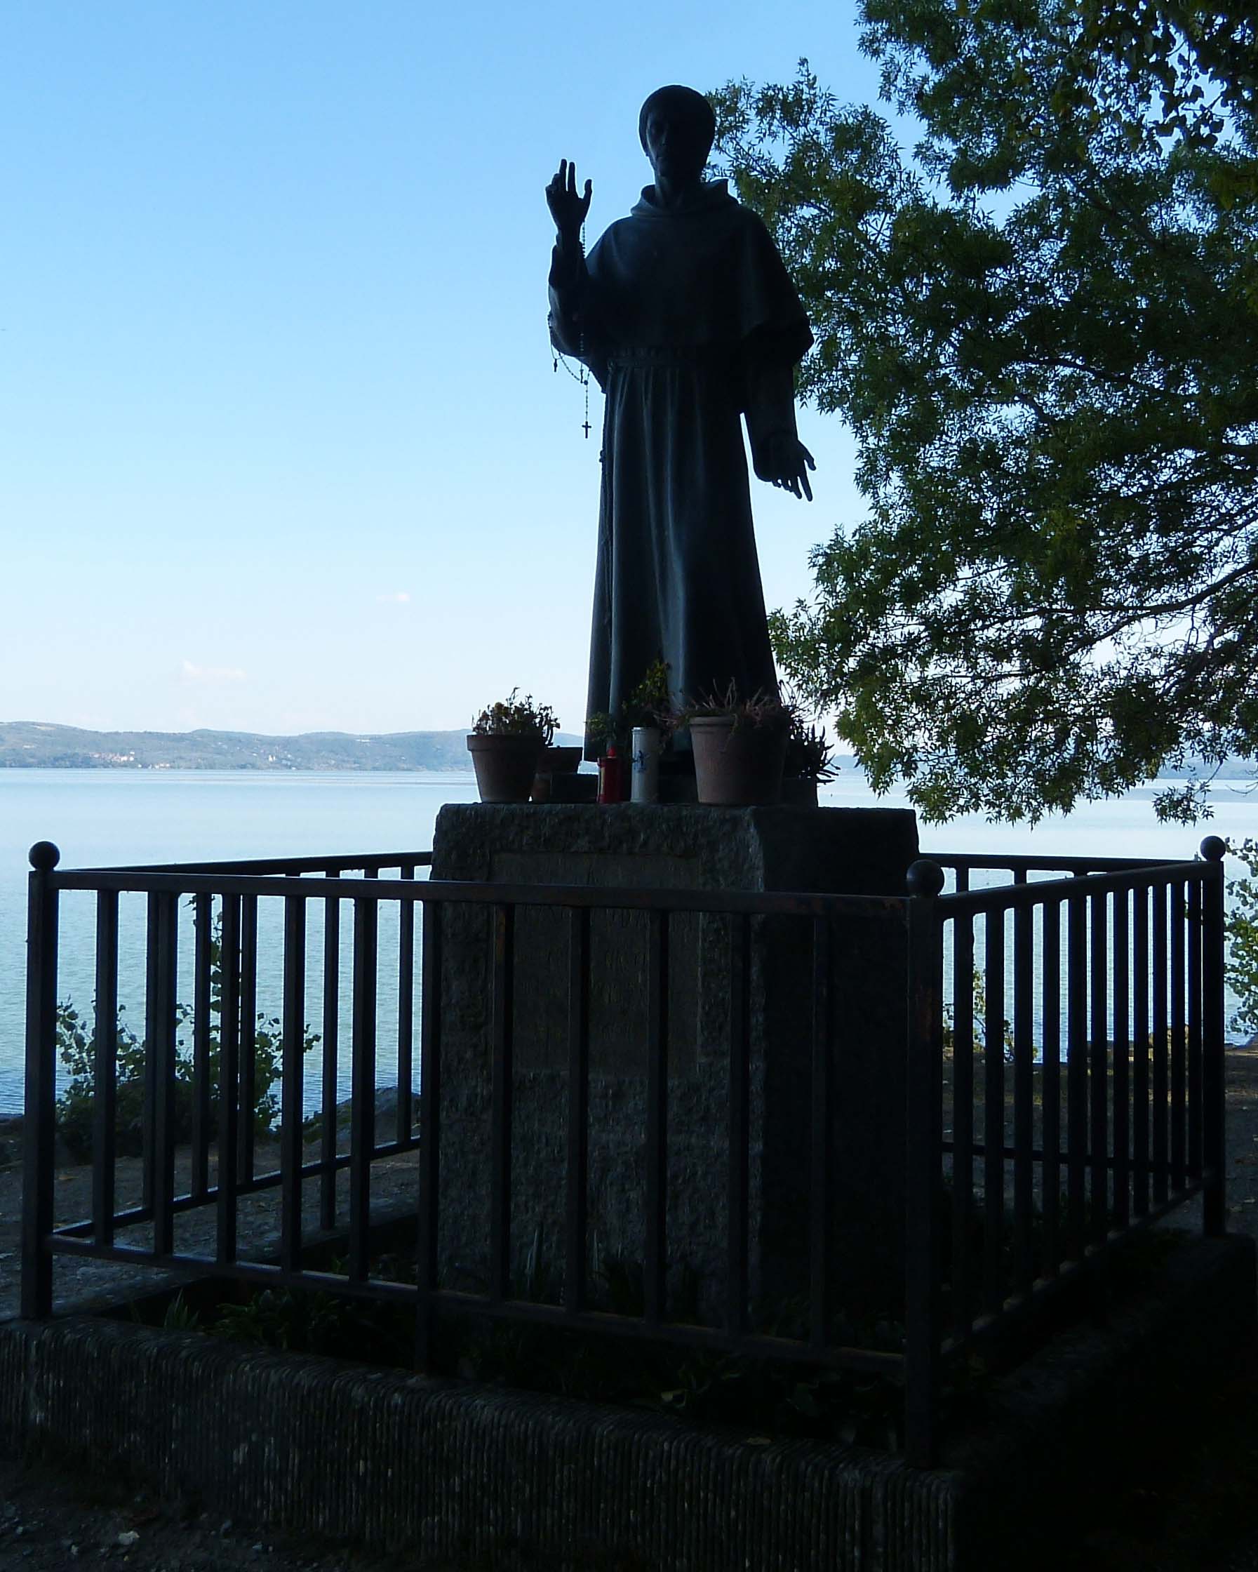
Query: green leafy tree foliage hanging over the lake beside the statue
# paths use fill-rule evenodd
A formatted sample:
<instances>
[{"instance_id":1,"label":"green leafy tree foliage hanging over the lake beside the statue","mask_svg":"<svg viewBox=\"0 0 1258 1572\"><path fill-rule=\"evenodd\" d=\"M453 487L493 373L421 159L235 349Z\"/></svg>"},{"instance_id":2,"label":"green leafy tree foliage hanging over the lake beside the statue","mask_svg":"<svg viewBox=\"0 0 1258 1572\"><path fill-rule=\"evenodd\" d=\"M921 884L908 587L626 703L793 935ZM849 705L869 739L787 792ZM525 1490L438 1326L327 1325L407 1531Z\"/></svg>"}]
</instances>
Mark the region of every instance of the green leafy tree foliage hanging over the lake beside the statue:
<instances>
[{"instance_id":1,"label":"green leafy tree foliage hanging over the lake beside the statue","mask_svg":"<svg viewBox=\"0 0 1258 1572\"><path fill-rule=\"evenodd\" d=\"M1190 819L1258 750L1256 35L1249 0L865 0L910 157L807 61L714 94L868 501L778 657L926 817L1172 766Z\"/></svg>"}]
</instances>

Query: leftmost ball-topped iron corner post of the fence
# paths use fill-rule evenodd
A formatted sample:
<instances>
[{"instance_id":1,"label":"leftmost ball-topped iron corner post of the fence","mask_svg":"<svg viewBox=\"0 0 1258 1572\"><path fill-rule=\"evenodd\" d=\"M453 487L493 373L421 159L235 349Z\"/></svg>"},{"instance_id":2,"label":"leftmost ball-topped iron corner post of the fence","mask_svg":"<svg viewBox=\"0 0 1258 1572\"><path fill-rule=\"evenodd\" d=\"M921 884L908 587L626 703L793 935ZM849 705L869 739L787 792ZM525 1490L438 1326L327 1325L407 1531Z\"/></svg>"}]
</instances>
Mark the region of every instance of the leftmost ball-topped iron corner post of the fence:
<instances>
[{"instance_id":1,"label":"leftmost ball-topped iron corner post of the fence","mask_svg":"<svg viewBox=\"0 0 1258 1572\"><path fill-rule=\"evenodd\" d=\"M52 1314L53 1140L57 1107L57 901L52 841L30 849L27 894L27 1064L22 1119L22 1316Z\"/></svg>"}]
</instances>

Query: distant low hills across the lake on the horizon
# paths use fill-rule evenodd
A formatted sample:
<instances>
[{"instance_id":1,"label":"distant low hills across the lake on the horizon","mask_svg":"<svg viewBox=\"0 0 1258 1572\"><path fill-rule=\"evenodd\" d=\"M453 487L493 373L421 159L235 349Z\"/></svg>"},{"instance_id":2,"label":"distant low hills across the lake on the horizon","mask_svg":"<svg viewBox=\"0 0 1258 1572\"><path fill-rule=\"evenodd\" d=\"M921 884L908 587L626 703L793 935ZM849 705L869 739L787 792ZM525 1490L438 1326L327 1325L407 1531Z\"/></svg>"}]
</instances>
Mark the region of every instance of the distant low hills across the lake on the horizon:
<instances>
[{"instance_id":1,"label":"distant low hills across the lake on the horizon","mask_svg":"<svg viewBox=\"0 0 1258 1572\"><path fill-rule=\"evenodd\" d=\"M465 731L385 736L308 731L83 731L0 722L0 769L72 770L465 770Z\"/></svg>"}]
</instances>

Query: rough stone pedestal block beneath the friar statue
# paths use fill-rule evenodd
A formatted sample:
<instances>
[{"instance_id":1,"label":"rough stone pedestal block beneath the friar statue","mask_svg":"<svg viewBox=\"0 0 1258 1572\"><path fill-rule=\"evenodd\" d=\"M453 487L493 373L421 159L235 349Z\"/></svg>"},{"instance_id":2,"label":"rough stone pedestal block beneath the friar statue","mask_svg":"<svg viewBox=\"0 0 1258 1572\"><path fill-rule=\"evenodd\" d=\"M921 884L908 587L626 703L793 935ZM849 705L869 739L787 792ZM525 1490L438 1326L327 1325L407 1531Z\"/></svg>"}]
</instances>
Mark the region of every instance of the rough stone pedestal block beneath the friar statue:
<instances>
[{"instance_id":1,"label":"rough stone pedestal block beneath the friar statue","mask_svg":"<svg viewBox=\"0 0 1258 1572\"><path fill-rule=\"evenodd\" d=\"M432 877L497 883L794 890L899 896L917 857L907 810L450 805ZM445 909L442 1273L487 1273L492 929ZM832 1173L830 1300L859 1330L903 1313L904 926L898 909L827 924ZM591 1264L643 1259L645 912L594 912L590 932ZM726 1270L731 924L675 913L668 951L670 1300L720 1317ZM789 1314L808 1289L813 920L753 918L750 945L750 1294ZM513 1267L563 1269L568 918L514 920ZM541 1286L541 1278L538 1278Z\"/></svg>"}]
</instances>

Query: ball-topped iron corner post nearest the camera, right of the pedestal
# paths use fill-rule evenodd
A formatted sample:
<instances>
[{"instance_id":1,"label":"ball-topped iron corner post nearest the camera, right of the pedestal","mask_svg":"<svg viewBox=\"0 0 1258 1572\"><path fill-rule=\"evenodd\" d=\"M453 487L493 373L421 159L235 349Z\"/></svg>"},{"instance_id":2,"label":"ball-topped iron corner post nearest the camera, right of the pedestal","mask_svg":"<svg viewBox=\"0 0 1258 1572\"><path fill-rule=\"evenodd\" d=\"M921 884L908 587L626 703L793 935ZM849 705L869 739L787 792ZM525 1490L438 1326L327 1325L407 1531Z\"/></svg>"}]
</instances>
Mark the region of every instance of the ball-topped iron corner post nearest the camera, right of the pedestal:
<instances>
[{"instance_id":1,"label":"ball-topped iron corner post nearest the camera, right of the pedestal","mask_svg":"<svg viewBox=\"0 0 1258 1572\"><path fill-rule=\"evenodd\" d=\"M909 868L907 888L904 1456L915 1468L929 1468L939 1421L944 940L936 896L944 869L920 858Z\"/></svg>"}]
</instances>

